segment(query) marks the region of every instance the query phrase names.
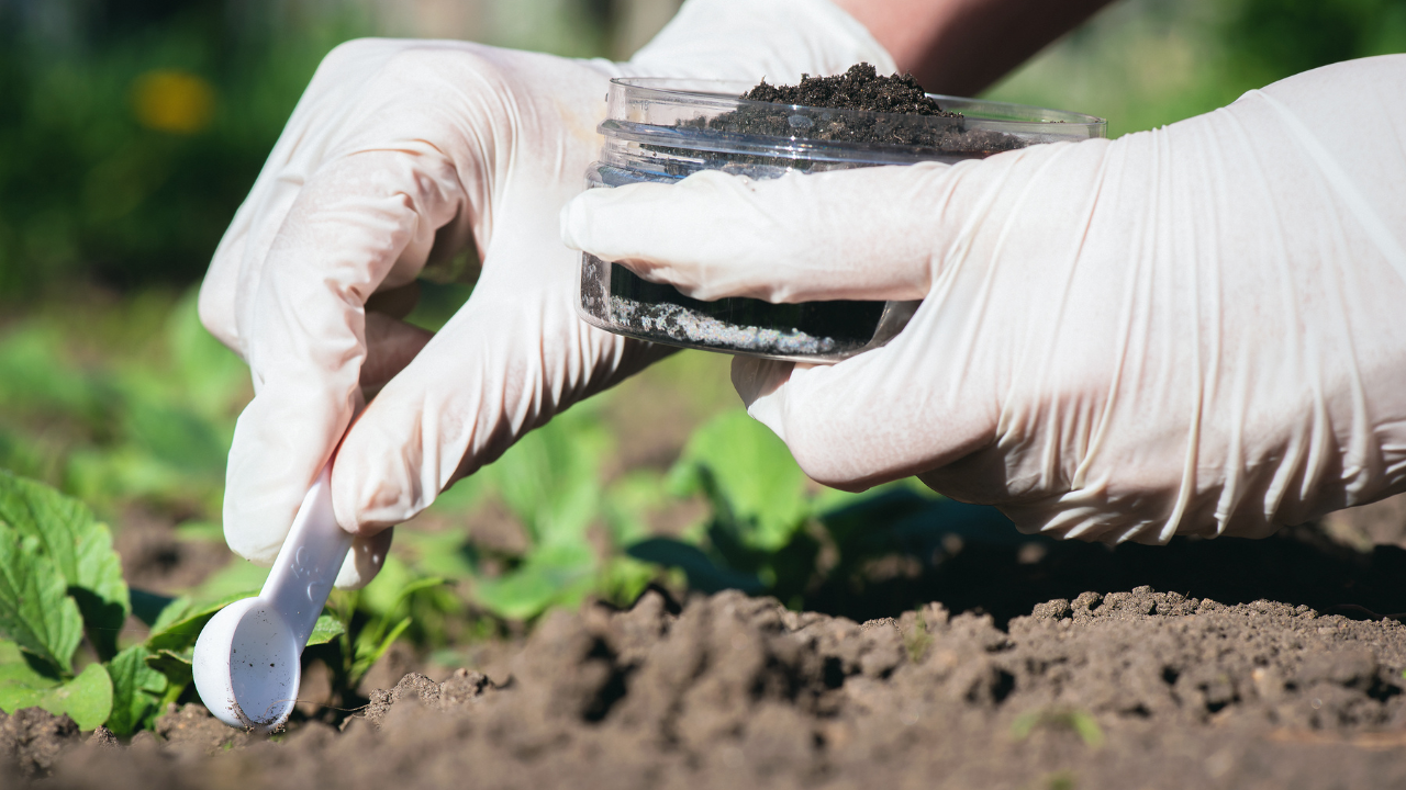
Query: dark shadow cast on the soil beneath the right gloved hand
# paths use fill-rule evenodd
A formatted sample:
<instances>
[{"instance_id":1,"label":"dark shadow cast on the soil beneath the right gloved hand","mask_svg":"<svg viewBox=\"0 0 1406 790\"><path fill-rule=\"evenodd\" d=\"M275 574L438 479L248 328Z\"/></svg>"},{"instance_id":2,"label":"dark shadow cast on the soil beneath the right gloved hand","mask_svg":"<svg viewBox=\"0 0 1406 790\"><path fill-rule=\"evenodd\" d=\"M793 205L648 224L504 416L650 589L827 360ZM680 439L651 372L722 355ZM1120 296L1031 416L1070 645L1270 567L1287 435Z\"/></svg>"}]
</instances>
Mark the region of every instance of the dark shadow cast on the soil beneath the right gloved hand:
<instances>
[{"instance_id":1,"label":"dark shadow cast on the soil beneath the right gloved hand","mask_svg":"<svg viewBox=\"0 0 1406 790\"><path fill-rule=\"evenodd\" d=\"M1168 545L1108 547L1022 536L994 507L946 500L884 531L880 540L891 554L845 578L832 575L807 593L804 609L863 623L935 600L953 613L991 614L1005 628L1050 599L1150 585L1226 604L1306 604L1353 620L1406 613L1406 550L1360 552L1316 524L1263 540L1178 537Z\"/></svg>"}]
</instances>

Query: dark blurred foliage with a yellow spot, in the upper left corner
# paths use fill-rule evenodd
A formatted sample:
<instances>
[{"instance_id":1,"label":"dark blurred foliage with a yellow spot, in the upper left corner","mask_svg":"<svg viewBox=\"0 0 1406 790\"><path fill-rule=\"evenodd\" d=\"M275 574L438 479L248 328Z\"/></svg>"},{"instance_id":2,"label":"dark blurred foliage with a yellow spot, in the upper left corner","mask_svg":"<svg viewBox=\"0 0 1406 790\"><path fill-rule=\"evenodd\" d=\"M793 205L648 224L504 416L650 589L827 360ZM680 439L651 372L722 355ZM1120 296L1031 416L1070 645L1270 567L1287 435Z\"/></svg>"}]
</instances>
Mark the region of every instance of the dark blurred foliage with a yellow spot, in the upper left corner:
<instances>
[{"instance_id":1,"label":"dark blurred foliage with a yellow spot, in the upper left corner","mask_svg":"<svg viewBox=\"0 0 1406 790\"><path fill-rule=\"evenodd\" d=\"M0 295L190 283L322 56L367 27L298 4L0 3ZM153 4L135 4L134 8ZM52 15L51 13L51 15Z\"/></svg>"}]
</instances>

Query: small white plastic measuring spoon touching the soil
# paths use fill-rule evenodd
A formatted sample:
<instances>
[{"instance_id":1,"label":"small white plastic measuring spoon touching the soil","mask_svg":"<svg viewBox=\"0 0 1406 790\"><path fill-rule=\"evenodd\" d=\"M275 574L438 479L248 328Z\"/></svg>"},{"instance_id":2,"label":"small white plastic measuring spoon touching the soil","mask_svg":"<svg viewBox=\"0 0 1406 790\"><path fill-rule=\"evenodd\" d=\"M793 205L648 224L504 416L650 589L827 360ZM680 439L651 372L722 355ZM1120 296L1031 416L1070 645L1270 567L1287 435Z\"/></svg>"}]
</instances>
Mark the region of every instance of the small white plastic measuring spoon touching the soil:
<instances>
[{"instance_id":1,"label":"small white plastic measuring spoon touching the soil","mask_svg":"<svg viewBox=\"0 0 1406 790\"><path fill-rule=\"evenodd\" d=\"M256 732L288 720L302 648L349 548L352 536L332 514L328 464L302 499L259 597L221 609L195 641L195 690L215 718Z\"/></svg>"}]
</instances>

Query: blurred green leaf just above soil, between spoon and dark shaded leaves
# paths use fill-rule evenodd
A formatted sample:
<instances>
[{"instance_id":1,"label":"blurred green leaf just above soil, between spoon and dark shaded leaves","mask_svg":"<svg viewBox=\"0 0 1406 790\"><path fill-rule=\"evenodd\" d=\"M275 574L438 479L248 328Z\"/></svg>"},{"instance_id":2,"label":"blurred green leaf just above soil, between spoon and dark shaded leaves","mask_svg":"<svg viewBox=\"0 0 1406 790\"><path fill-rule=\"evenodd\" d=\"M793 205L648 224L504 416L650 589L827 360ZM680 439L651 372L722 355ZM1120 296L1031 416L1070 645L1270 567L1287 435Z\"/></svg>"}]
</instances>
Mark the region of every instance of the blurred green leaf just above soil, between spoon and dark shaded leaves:
<instances>
[{"instance_id":1,"label":"blurred green leaf just above soil, between spoon and dark shaded leaves","mask_svg":"<svg viewBox=\"0 0 1406 790\"><path fill-rule=\"evenodd\" d=\"M474 599L499 617L527 620L548 606L579 603L595 582L589 545L548 545L533 551L510 574L474 585Z\"/></svg>"}]
</instances>

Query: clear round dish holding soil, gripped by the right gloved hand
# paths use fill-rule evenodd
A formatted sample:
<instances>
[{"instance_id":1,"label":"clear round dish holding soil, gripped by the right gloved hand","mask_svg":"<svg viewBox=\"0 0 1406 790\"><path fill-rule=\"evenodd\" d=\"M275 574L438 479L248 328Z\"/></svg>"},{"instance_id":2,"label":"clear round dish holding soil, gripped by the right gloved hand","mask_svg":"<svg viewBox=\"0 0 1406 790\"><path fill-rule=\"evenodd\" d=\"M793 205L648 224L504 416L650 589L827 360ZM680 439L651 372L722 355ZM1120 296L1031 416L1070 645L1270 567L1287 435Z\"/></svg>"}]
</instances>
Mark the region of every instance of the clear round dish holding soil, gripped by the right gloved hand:
<instances>
[{"instance_id":1,"label":"clear round dish holding soil, gripped by the right gloved hand","mask_svg":"<svg viewBox=\"0 0 1406 790\"><path fill-rule=\"evenodd\" d=\"M605 145L586 171L586 187L672 183L699 170L775 179L793 170L950 163L1108 134L1102 118L1000 101L932 96L942 110L960 117L898 115L737 98L751 87L723 80L610 80L607 117L599 127ZM747 298L702 302L589 253L582 254L576 304L582 319L617 335L808 363L839 361L883 346L918 306L862 301L773 305Z\"/></svg>"}]
</instances>

